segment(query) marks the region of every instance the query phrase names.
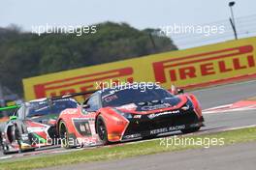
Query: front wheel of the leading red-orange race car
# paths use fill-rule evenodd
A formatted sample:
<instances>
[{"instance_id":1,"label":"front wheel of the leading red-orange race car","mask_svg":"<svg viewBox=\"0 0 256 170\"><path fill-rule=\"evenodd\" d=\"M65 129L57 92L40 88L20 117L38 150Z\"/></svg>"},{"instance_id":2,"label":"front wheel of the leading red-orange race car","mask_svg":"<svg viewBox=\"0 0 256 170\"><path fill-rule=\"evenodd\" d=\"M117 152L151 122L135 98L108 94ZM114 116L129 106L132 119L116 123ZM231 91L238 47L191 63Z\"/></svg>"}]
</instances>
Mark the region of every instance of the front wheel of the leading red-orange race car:
<instances>
[{"instance_id":1,"label":"front wheel of the leading red-orange race car","mask_svg":"<svg viewBox=\"0 0 256 170\"><path fill-rule=\"evenodd\" d=\"M102 143L104 145L109 144L110 142L108 140L108 130L107 130L105 121L102 118L102 116L98 116L98 118L97 118L96 130L97 130L97 133L98 133L99 138L101 139Z\"/></svg>"}]
</instances>

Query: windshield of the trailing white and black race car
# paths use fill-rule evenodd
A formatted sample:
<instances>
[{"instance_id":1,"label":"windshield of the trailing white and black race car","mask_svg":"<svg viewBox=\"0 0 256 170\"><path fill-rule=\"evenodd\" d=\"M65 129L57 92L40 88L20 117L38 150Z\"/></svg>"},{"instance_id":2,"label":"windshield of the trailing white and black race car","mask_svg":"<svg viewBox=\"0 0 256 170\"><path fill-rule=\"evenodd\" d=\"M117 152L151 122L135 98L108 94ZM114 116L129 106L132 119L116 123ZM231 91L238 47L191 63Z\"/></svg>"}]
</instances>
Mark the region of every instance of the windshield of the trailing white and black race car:
<instances>
[{"instance_id":1,"label":"windshield of the trailing white and black race car","mask_svg":"<svg viewBox=\"0 0 256 170\"><path fill-rule=\"evenodd\" d=\"M77 108L75 100L55 100L51 103L46 101L30 102L26 110L26 117L44 116L49 114L60 114L66 108Z\"/></svg>"}]
</instances>

